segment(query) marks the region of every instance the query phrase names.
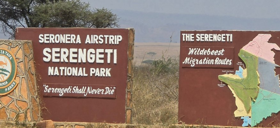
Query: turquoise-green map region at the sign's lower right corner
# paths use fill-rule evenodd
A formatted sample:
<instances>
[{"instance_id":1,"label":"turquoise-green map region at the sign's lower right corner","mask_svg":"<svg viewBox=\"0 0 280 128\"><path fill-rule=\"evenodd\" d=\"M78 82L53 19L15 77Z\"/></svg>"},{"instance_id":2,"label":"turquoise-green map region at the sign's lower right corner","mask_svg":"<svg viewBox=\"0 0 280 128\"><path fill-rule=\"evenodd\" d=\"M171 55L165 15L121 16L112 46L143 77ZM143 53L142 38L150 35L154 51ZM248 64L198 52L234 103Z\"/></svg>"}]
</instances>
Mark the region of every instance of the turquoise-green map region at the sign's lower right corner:
<instances>
[{"instance_id":1,"label":"turquoise-green map region at the sign's lower right corner","mask_svg":"<svg viewBox=\"0 0 280 128\"><path fill-rule=\"evenodd\" d=\"M260 89L255 102L252 101L251 126L256 126L272 113L280 111L280 95Z\"/></svg>"}]
</instances>

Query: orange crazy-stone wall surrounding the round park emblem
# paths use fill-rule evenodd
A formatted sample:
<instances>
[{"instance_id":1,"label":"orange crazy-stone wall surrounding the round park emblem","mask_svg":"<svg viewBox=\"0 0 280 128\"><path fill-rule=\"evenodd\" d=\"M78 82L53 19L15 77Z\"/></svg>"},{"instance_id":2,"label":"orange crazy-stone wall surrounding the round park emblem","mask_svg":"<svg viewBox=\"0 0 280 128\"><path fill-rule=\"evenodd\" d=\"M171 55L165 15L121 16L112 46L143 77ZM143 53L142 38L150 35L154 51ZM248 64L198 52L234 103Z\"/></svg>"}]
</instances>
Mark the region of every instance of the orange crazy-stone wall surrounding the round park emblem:
<instances>
[{"instance_id":1,"label":"orange crazy-stone wall surrounding the round park emblem","mask_svg":"<svg viewBox=\"0 0 280 128\"><path fill-rule=\"evenodd\" d=\"M10 50L17 61L18 86L11 93L0 96L0 121L41 120L39 97L31 41L0 40L0 48Z\"/></svg>"}]
</instances>

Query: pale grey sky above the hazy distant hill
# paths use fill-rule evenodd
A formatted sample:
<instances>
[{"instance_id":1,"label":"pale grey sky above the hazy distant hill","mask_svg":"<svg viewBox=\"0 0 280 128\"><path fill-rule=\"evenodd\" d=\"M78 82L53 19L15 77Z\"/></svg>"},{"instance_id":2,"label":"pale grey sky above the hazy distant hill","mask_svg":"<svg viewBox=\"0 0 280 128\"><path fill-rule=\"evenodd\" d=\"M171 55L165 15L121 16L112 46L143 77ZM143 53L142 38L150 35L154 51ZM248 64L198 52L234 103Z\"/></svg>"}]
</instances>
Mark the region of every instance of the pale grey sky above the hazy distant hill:
<instances>
[{"instance_id":1,"label":"pale grey sky above the hazy distant hill","mask_svg":"<svg viewBox=\"0 0 280 128\"><path fill-rule=\"evenodd\" d=\"M127 13L139 11L280 19L279 0L82 0L82 2L88 2L92 8L104 7L112 11L121 9L127 10ZM0 39L8 37L0 33Z\"/></svg>"}]
</instances>

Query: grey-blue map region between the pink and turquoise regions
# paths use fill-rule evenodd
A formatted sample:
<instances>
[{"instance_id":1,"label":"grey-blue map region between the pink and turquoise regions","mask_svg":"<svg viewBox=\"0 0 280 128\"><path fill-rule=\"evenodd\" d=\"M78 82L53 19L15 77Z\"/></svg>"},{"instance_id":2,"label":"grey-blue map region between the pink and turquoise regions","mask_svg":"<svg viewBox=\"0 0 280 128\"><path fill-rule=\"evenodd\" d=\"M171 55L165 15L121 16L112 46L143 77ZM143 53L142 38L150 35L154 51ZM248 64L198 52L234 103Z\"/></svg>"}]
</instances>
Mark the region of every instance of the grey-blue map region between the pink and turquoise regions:
<instances>
[{"instance_id":1,"label":"grey-blue map region between the pink and turquoise regions","mask_svg":"<svg viewBox=\"0 0 280 128\"><path fill-rule=\"evenodd\" d=\"M265 59L258 58L259 87L272 93L280 94L279 75L275 76L275 67L279 66Z\"/></svg>"}]
</instances>

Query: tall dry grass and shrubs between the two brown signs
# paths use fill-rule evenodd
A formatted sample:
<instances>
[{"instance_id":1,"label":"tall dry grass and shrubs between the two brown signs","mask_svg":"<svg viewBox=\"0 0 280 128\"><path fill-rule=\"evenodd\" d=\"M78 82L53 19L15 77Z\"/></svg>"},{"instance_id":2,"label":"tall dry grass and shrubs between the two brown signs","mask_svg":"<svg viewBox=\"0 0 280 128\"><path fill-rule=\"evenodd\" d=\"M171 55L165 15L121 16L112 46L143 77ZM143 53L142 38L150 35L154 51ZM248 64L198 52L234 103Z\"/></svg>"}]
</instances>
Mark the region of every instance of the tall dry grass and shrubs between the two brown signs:
<instances>
[{"instance_id":1,"label":"tall dry grass and shrubs between the two brown signs","mask_svg":"<svg viewBox=\"0 0 280 128\"><path fill-rule=\"evenodd\" d=\"M177 123L178 72L177 57L134 66L133 123Z\"/></svg>"}]
</instances>

